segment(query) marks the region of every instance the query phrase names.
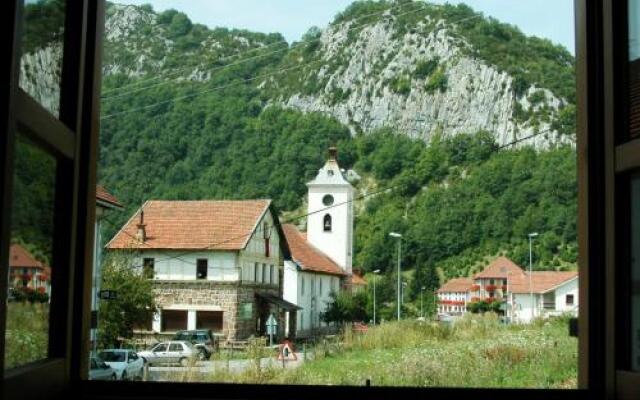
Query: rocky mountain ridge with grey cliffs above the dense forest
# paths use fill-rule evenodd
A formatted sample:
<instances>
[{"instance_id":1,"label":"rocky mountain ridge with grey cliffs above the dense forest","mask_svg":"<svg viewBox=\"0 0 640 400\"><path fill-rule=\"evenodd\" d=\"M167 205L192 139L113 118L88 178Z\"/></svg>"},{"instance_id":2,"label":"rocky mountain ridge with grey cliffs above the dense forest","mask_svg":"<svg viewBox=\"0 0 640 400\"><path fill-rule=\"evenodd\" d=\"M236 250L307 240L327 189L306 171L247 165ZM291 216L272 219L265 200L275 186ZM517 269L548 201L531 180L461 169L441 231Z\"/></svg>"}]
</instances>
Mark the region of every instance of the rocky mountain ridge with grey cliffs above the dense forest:
<instances>
[{"instance_id":1,"label":"rocky mountain ridge with grey cliffs above the dense forest","mask_svg":"<svg viewBox=\"0 0 640 400\"><path fill-rule=\"evenodd\" d=\"M225 64L249 57L249 63L260 63L264 74L258 76L268 76L252 82L263 91L266 105L331 115L352 134L393 127L427 142L437 132L449 136L479 130L493 132L499 144L540 132L524 143L573 140L562 115L572 112L570 90L526 79L532 68L570 79L569 53L462 6L355 3L330 26L310 30L289 47L277 34L209 30L186 17L174 19L181 15L110 6L105 76L158 73L172 82L206 83ZM516 64L506 66L492 63L486 51L475 47L522 51L541 45L547 48L534 55L538 65L527 64L524 57L518 65L516 54L506 57ZM513 71L524 73L515 76Z\"/></svg>"}]
</instances>

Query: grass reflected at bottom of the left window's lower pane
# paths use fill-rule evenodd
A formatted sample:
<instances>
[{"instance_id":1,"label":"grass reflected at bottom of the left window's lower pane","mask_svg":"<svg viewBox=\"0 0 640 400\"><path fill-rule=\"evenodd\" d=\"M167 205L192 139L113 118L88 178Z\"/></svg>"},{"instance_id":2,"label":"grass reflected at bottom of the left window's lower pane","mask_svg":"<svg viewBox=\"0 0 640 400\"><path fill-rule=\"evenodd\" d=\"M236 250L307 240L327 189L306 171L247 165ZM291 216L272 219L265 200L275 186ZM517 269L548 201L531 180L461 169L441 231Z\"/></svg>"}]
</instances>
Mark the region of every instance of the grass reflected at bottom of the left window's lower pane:
<instances>
[{"instance_id":1,"label":"grass reflected at bottom of the left window's lower pane","mask_svg":"<svg viewBox=\"0 0 640 400\"><path fill-rule=\"evenodd\" d=\"M5 368L47 357L49 305L7 303Z\"/></svg>"}]
</instances>

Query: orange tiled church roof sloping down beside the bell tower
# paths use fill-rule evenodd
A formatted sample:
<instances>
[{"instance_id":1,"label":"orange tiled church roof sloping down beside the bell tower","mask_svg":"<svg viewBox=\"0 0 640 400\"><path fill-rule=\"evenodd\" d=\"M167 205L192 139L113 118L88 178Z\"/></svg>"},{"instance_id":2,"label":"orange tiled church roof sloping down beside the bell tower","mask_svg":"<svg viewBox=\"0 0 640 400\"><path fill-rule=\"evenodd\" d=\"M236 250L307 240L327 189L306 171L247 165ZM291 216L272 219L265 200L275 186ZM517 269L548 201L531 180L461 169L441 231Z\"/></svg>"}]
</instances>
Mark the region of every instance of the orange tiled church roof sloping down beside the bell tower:
<instances>
[{"instance_id":1,"label":"orange tiled church roof sloping down beside the bell tower","mask_svg":"<svg viewBox=\"0 0 640 400\"><path fill-rule=\"evenodd\" d=\"M291 250L291 258L303 271L346 275L338 264L307 242L305 235L294 225L283 225L282 229Z\"/></svg>"}]
</instances>

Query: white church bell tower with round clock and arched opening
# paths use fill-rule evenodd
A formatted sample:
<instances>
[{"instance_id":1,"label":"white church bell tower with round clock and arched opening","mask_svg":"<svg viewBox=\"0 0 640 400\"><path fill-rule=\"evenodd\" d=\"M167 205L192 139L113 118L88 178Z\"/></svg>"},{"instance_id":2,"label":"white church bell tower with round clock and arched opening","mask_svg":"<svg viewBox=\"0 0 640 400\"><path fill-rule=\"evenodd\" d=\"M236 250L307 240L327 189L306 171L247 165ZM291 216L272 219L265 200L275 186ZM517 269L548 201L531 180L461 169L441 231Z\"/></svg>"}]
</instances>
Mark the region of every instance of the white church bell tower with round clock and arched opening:
<instances>
[{"instance_id":1,"label":"white church bell tower with round clock and arched opening","mask_svg":"<svg viewBox=\"0 0 640 400\"><path fill-rule=\"evenodd\" d=\"M335 147L309 188L307 241L351 274L353 253L353 186L345 179Z\"/></svg>"}]
</instances>

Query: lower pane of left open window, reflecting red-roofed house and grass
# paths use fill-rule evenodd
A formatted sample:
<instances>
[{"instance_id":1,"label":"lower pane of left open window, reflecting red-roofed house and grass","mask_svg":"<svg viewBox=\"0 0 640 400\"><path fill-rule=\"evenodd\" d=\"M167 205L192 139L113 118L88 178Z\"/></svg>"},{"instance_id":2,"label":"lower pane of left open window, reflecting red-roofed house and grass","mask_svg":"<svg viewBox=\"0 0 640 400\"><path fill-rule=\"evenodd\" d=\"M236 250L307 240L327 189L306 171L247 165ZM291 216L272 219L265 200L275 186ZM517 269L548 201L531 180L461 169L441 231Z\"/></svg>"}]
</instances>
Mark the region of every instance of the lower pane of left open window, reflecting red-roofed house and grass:
<instances>
[{"instance_id":1,"label":"lower pane of left open window, reflecting red-roofed house and grass","mask_svg":"<svg viewBox=\"0 0 640 400\"><path fill-rule=\"evenodd\" d=\"M15 148L5 368L47 357L56 160L21 136Z\"/></svg>"}]
</instances>

